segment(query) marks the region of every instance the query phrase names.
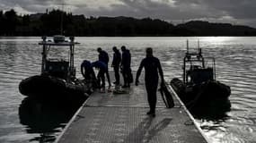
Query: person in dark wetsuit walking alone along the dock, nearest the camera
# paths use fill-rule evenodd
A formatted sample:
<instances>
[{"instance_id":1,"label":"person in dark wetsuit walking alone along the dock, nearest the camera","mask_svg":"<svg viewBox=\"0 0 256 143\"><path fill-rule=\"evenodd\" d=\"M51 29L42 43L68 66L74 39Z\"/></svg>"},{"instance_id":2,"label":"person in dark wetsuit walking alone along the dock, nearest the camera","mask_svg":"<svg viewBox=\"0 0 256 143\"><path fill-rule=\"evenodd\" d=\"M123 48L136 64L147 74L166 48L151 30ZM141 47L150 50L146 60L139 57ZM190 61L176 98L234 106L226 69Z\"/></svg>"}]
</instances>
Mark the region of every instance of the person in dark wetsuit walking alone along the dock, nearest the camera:
<instances>
[{"instance_id":1,"label":"person in dark wetsuit walking alone along the dock, nearest the camera","mask_svg":"<svg viewBox=\"0 0 256 143\"><path fill-rule=\"evenodd\" d=\"M153 49L151 47L146 48L146 58L144 58L137 70L136 86L139 82L139 76L142 69L145 69L145 84L147 92L147 100L150 107L149 112L146 114L155 116L155 105L156 105L156 91L158 86L158 73L163 83L163 70L161 63L158 58L154 57Z\"/></svg>"}]
</instances>

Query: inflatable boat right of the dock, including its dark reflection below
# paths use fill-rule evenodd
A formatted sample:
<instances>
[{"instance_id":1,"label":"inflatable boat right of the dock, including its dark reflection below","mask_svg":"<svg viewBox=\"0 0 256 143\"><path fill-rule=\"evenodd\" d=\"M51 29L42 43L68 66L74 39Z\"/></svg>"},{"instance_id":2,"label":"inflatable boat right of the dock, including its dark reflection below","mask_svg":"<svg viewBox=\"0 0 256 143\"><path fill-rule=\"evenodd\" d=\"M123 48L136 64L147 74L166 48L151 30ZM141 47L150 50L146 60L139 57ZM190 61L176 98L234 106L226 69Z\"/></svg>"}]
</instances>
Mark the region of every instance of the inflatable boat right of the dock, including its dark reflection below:
<instances>
[{"instance_id":1,"label":"inflatable boat right of the dock, including its dark reflection below","mask_svg":"<svg viewBox=\"0 0 256 143\"><path fill-rule=\"evenodd\" d=\"M172 79L171 85L192 114L215 116L230 111L231 89L216 80L215 58L205 58L201 48L190 52L187 43L182 68L183 80Z\"/></svg>"}]
</instances>

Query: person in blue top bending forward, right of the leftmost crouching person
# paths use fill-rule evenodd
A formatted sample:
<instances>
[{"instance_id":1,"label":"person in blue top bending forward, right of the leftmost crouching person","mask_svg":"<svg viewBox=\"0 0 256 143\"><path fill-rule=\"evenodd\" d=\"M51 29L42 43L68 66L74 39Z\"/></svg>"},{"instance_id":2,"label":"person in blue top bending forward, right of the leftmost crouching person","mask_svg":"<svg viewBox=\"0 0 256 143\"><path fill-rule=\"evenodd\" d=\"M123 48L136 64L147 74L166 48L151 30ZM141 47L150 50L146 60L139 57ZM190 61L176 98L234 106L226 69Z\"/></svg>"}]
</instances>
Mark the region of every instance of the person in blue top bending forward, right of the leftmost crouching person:
<instances>
[{"instance_id":1,"label":"person in blue top bending forward, right of the leftmost crouching person","mask_svg":"<svg viewBox=\"0 0 256 143\"><path fill-rule=\"evenodd\" d=\"M96 61L92 63L92 66L99 69L97 80L98 83L101 83L102 91L105 91L105 73L107 74L108 66L106 63L103 63L102 61ZM110 85L110 80L109 80Z\"/></svg>"}]
</instances>

